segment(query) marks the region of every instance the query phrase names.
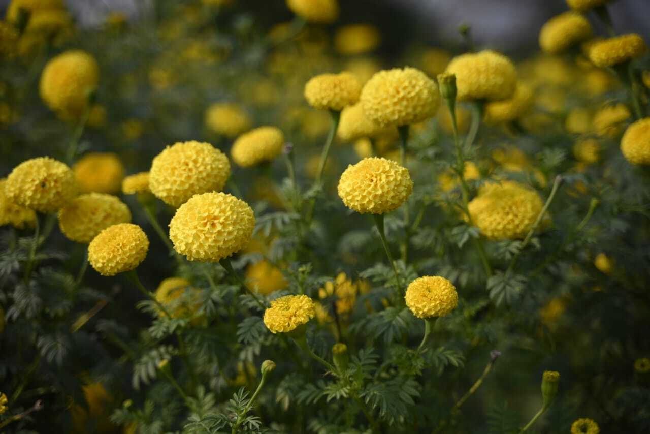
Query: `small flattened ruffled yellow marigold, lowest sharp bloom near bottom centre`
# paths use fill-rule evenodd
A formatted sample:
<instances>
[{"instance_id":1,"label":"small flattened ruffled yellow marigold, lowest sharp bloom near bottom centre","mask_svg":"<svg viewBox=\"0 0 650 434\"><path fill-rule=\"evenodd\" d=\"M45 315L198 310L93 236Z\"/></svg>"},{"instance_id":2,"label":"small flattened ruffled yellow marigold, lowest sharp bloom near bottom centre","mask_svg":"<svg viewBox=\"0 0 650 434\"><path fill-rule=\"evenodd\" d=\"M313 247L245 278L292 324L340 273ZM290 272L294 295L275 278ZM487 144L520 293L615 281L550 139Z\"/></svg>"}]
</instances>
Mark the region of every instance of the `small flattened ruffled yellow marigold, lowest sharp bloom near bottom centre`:
<instances>
[{"instance_id":1,"label":"small flattened ruffled yellow marigold, lowest sharp bloom near bottom centre","mask_svg":"<svg viewBox=\"0 0 650 434\"><path fill-rule=\"evenodd\" d=\"M314 302L307 295L285 295L271 302L264 312L264 324L272 333L286 333L314 318Z\"/></svg>"}]
</instances>

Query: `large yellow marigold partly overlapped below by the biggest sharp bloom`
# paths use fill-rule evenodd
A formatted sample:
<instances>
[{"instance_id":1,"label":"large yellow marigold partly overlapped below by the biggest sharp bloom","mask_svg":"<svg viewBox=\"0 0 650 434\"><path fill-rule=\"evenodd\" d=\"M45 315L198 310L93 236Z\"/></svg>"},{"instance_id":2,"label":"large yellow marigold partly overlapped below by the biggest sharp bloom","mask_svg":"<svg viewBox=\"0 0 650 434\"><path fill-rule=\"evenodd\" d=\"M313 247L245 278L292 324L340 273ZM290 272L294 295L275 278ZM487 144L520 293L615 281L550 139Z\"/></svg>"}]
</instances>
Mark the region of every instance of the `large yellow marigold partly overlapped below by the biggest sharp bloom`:
<instances>
[{"instance_id":1,"label":"large yellow marigold partly overlapped below by the biggest sharp bloom","mask_svg":"<svg viewBox=\"0 0 650 434\"><path fill-rule=\"evenodd\" d=\"M228 157L211 144L177 142L153 159L149 189L166 204L180 206L194 195L221 190L229 175Z\"/></svg>"}]
</instances>

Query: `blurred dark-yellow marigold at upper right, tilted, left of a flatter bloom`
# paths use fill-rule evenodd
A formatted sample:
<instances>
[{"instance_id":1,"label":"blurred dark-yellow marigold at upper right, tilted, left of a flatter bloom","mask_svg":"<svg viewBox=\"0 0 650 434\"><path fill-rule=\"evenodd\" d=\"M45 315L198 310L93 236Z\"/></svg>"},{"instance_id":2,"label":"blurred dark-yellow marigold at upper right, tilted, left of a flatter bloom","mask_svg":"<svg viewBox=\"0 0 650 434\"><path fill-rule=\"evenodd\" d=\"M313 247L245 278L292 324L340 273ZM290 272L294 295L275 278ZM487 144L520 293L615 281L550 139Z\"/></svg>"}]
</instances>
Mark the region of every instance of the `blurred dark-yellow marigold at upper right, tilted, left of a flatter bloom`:
<instances>
[{"instance_id":1,"label":"blurred dark-yellow marigold at upper right, tilted, left of a flatter bloom","mask_svg":"<svg viewBox=\"0 0 650 434\"><path fill-rule=\"evenodd\" d=\"M577 12L554 16L539 31L539 46L547 53L560 53L576 42L591 36L589 21Z\"/></svg>"}]
</instances>

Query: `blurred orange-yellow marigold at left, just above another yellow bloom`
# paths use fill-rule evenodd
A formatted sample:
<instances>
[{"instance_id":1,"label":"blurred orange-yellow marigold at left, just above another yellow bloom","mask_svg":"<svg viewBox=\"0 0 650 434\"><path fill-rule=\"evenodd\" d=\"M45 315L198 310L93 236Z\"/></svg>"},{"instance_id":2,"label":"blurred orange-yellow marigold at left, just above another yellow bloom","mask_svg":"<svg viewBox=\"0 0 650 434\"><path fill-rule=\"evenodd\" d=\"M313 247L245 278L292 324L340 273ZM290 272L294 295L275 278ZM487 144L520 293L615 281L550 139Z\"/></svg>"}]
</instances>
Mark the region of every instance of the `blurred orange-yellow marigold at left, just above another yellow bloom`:
<instances>
[{"instance_id":1,"label":"blurred orange-yellow marigold at left, just above another yellow bloom","mask_svg":"<svg viewBox=\"0 0 650 434\"><path fill-rule=\"evenodd\" d=\"M118 193L124 178L122 161L112 152L90 152L81 157L72 170L84 193Z\"/></svg>"}]
</instances>

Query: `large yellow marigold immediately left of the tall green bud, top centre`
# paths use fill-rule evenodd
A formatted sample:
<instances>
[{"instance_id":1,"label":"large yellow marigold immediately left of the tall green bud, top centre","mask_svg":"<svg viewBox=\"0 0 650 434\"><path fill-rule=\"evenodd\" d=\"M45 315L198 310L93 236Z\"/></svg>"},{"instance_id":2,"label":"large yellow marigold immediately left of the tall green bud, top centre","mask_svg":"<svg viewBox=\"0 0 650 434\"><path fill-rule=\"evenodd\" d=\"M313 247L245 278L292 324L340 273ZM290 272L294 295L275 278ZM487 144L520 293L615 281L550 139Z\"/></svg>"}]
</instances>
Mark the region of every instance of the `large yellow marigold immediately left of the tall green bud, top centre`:
<instances>
[{"instance_id":1,"label":"large yellow marigold immediately left of the tall green bud, top centre","mask_svg":"<svg viewBox=\"0 0 650 434\"><path fill-rule=\"evenodd\" d=\"M415 68L383 70L361 90L366 116L380 126L417 124L438 111L440 95L435 82Z\"/></svg>"}]
</instances>

